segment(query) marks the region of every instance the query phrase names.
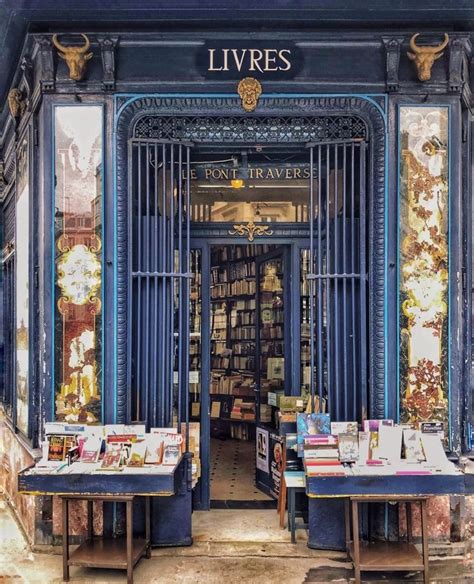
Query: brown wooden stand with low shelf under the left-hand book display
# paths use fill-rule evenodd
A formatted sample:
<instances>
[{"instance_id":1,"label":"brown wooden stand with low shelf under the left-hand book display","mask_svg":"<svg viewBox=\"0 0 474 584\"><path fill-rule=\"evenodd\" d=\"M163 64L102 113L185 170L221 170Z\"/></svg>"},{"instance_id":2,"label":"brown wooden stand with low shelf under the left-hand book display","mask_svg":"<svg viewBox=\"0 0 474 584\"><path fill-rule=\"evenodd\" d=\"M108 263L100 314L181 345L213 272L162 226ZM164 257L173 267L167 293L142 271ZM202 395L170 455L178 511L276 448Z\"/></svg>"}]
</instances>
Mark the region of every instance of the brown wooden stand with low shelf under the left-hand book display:
<instances>
[{"instance_id":1,"label":"brown wooden stand with low shelf under the left-hand book display","mask_svg":"<svg viewBox=\"0 0 474 584\"><path fill-rule=\"evenodd\" d=\"M127 570L127 583L133 584L133 568L140 558L151 557L150 497L145 497L145 539L133 537L133 502L136 495L61 495L63 511L63 580L69 581L69 566ZM87 501L87 539L69 552L69 501ZM92 506L94 501L125 503L127 526L125 538L94 536Z\"/></svg>"}]
</instances>

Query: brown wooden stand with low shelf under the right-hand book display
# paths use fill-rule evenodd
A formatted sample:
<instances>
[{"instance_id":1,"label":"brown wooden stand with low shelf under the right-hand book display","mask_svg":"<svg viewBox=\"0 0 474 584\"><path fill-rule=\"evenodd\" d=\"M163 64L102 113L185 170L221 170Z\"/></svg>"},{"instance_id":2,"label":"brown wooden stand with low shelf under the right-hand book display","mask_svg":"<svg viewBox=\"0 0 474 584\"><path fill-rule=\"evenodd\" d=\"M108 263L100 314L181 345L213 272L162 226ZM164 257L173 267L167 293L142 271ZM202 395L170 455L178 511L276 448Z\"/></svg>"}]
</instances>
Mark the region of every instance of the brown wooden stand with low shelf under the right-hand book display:
<instances>
[{"instance_id":1,"label":"brown wooden stand with low shelf under the right-hand book display","mask_svg":"<svg viewBox=\"0 0 474 584\"><path fill-rule=\"evenodd\" d=\"M366 495L351 497L352 508L352 538L346 514L346 541L347 551L354 562L355 582L360 584L360 575L363 571L420 571L423 572L424 582L429 582L428 535L426 531L426 501L429 497L410 495L387 496ZM359 504L360 503L404 503L407 517L407 542L361 542L359 533ZM412 541L411 514L413 503L421 506L421 544L423 554L420 555ZM349 522L350 523L350 522Z\"/></svg>"}]
</instances>

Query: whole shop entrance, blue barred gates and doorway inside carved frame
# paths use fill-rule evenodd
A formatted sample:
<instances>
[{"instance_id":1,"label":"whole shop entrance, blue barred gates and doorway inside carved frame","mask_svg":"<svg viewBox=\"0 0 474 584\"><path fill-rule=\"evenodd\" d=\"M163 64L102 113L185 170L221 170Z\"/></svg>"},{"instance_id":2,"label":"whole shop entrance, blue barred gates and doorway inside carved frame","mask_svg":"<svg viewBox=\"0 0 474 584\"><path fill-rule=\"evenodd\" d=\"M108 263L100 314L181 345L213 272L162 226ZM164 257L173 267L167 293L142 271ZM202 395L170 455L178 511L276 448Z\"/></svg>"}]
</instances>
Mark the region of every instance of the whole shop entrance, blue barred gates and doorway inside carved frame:
<instances>
[{"instance_id":1,"label":"whole shop entrance, blue barred gates and doorway inside carved frame","mask_svg":"<svg viewBox=\"0 0 474 584\"><path fill-rule=\"evenodd\" d=\"M333 420L367 408L367 143L310 142L327 128L306 119L292 142L295 123L130 142L131 417L199 424L198 509L275 500L278 396L318 396Z\"/></svg>"}]
</instances>

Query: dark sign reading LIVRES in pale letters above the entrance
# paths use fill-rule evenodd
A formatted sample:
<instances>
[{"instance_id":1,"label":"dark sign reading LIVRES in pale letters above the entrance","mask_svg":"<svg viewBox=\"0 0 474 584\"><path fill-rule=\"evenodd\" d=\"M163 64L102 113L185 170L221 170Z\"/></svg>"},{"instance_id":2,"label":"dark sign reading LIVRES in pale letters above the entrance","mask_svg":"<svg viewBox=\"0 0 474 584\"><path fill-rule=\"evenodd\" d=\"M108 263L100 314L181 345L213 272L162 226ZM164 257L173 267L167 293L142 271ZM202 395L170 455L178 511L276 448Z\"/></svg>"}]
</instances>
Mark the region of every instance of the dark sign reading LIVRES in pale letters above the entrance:
<instances>
[{"instance_id":1,"label":"dark sign reading LIVRES in pale letters above the entrance","mask_svg":"<svg viewBox=\"0 0 474 584\"><path fill-rule=\"evenodd\" d=\"M291 41L207 41L197 55L206 79L292 79L302 66L302 51Z\"/></svg>"}]
</instances>

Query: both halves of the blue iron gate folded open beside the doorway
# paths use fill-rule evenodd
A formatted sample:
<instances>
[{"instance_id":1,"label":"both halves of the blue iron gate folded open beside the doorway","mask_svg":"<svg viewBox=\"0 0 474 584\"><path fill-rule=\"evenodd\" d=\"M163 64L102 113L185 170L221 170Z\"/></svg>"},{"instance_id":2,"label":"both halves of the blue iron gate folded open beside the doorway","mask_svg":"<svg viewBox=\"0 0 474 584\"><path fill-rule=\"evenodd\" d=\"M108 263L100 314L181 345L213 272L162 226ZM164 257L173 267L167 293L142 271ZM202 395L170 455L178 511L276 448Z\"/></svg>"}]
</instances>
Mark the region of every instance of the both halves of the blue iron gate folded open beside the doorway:
<instances>
[{"instance_id":1,"label":"both halves of the blue iron gate folded open beside the doorway","mask_svg":"<svg viewBox=\"0 0 474 584\"><path fill-rule=\"evenodd\" d=\"M366 151L308 144L310 390L334 420L367 413ZM189 420L190 155L183 141L129 141L129 411L150 426Z\"/></svg>"}]
</instances>

